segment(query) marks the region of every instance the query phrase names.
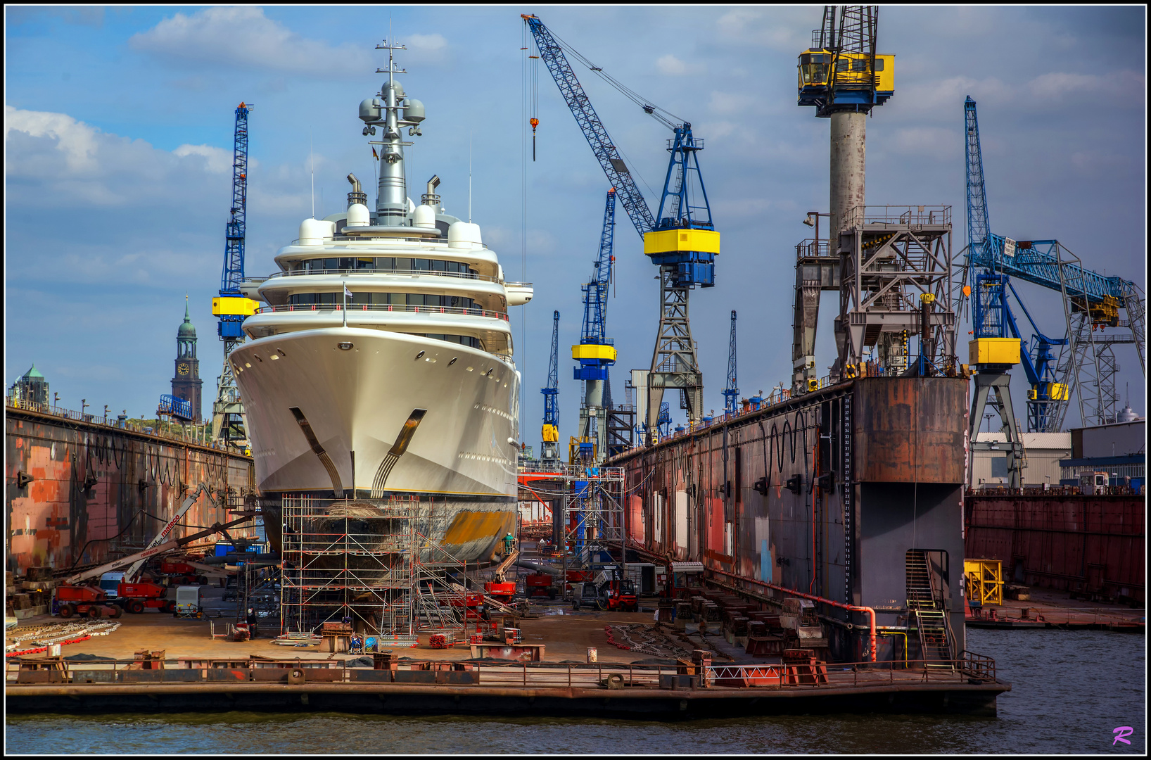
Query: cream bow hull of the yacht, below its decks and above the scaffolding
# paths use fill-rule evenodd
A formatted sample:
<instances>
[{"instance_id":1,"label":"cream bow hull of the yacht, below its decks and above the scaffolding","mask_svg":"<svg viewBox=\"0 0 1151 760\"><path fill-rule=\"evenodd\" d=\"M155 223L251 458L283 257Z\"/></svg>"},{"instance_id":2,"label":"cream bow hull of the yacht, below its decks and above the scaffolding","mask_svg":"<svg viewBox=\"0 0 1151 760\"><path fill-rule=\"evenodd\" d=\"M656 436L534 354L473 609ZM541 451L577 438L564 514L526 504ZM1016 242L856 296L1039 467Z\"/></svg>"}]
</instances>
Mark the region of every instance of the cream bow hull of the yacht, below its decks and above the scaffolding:
<instances>
[{"instance_id":1,"label":"cream bow hull of the yacht, below its decks and above the scaffolding","mask_svg":"<svg viewBox=\"0 0 1151 760\"><path fill-rule=\"evenodd\" d=\"M259 339L231 357L266 502L416 496L434 504L429 538L462 561L490 558L514 532L519 374L509 363L355 327Z\"/></svg>"}]
</instances>

